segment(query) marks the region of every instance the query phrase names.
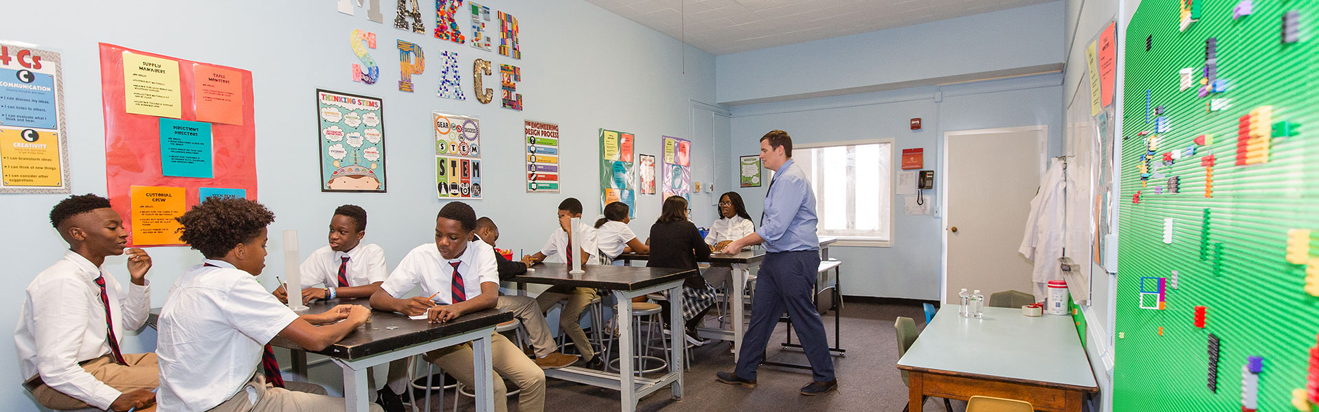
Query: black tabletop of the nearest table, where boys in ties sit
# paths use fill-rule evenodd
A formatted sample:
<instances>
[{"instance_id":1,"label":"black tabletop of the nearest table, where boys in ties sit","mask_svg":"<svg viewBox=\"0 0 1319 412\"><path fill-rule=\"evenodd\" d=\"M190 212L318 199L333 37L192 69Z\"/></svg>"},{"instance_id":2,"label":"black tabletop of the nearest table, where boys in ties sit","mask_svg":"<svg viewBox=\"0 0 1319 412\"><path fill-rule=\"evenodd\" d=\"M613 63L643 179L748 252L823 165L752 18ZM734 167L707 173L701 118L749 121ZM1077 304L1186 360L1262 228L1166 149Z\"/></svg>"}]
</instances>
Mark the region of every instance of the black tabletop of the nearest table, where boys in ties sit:
<instances>
[{"instance_id":1,"label":"black tabletop of the nearest table, where boys in ties sit","mask_svg":"<svg viewBox=\"0 0 1319 412\"><path fill-rule=\"evenodd\" d=\"M371 304L368 302L367 298L353 298L353 300L335 298L328 301L311 302L310 305L307 305L307 310L299 312L299 314L322 313L330 310L331 308L339 304L353 304L371 308ZM392 351L400 347L441 339L448 335L471 331L485 326L495 326L510 320L513 320L512 312L500 312L499 309L487 309L476 313L468 313L445 324L413 321L401 313L372 310L369 324L357 326L357 330L352 331L342 341L330 345L330 347L326 347L322 351L314 351L314 353L326 357L352 360L380 353ZM293 343L293 341L285 339L282 337L274 337L274 339L270 339L270 345L286 349L305 350L297 343Z\"/></svg>"}]
</instances>

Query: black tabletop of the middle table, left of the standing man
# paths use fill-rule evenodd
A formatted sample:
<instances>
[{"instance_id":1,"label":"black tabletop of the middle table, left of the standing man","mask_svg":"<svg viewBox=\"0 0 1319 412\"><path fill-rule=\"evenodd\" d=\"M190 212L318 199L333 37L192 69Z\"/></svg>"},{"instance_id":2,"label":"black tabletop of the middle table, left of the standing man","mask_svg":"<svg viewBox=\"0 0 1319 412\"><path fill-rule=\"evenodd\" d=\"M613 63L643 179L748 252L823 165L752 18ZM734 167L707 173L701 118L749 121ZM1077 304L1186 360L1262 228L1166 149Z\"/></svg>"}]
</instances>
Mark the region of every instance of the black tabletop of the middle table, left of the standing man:
<instances>
[{"instance_id":1,"label":"black tabletop of the middle table, left of the standing man","mask_svg":"<svg viewBox=\"0 0 1319 412\"><path fill-rule=\"evenodd\" d=\"M562 263L538 263L525 275L513 277L516 283L542 285L570 285L611 291L637 291L653 285L687 279L695 269L670 269L646 267L582 265L584 273L568 273L568 265Z\"/></svg>"}]
</instances>

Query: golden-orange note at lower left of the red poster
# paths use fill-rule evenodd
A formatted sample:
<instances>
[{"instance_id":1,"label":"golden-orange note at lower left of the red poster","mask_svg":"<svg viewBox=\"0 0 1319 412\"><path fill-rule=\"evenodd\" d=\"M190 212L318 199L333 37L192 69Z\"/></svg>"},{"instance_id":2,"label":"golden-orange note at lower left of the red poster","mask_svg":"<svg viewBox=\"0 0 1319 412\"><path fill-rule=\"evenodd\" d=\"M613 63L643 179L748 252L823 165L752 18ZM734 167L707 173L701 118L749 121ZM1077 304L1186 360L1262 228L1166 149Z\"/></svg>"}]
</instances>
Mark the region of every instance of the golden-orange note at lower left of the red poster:
<instances>
[{"instance_id":1,"label":"golden-orange note at lower left of the red poster","mask_svg":"<svg viewBox=\"0 0 1319 412\"><path fill-rule=\"evenodd\" d=\"M133 214L133 246L183 244L178 239L182 224L174 218L186 209L183 188L129 188Z\"/></svg>"}]
</instances>

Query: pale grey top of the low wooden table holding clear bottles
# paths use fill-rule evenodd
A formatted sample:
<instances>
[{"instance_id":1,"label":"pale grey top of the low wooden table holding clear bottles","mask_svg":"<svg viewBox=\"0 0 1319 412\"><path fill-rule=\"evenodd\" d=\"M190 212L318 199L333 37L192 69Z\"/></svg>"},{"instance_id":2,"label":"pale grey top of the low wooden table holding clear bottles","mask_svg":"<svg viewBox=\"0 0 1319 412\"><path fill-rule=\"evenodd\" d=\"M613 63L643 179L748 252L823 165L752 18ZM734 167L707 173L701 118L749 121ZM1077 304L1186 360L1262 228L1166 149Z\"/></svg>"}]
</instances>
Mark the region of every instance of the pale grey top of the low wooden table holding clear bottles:
<instances>
[{"instance_id":1,"label":"pale grey top of the low wooden table holding clear bottles","mask_svg":"<svg viewBox=\"0 0 1319 412\"><path fill-rule=\"evenodd\" d=\"M984 318L943 305L898 367L996 376L1093 391L1095 374L1070 316L1026 317L1020 308L985 308Z\"/></svg>"}]
</instances>

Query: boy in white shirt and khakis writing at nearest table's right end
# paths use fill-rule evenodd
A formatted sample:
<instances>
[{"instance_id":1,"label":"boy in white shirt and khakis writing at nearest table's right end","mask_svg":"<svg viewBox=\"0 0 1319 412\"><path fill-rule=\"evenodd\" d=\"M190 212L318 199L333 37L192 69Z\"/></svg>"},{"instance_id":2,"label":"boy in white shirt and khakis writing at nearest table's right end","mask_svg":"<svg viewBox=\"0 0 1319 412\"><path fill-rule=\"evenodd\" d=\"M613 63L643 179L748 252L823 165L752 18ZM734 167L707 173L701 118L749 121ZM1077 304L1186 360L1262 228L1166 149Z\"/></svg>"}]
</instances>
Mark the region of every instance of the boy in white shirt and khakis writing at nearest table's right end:
<instances>
[{"instance_id":1,"label":"boy in white shirt and khakis writing at nearest table's right end","mask_svg":"<svg viewBox=\"0 0 1319 412\"><path fill-rule=\"evenodd\" d=\"M427 314L431 324L495 309L499 300L495 248L485 242L472 240L475 230L476 213L471 206L463 202L445 203L435 217L435 243L426 243L408 252L380 285L380 292L371 296L371 306L408 316ZM429 297L402 298L417 285ZM545 372L504 335L496 333L491 339L493 370L522 390L517 411L545 411ZM423 355L427 362L435 363L468 387L475 378L470 343ZM504 379L495 379L495 411L508 411L506 394Z\"/></svg>"}]
</instances>

